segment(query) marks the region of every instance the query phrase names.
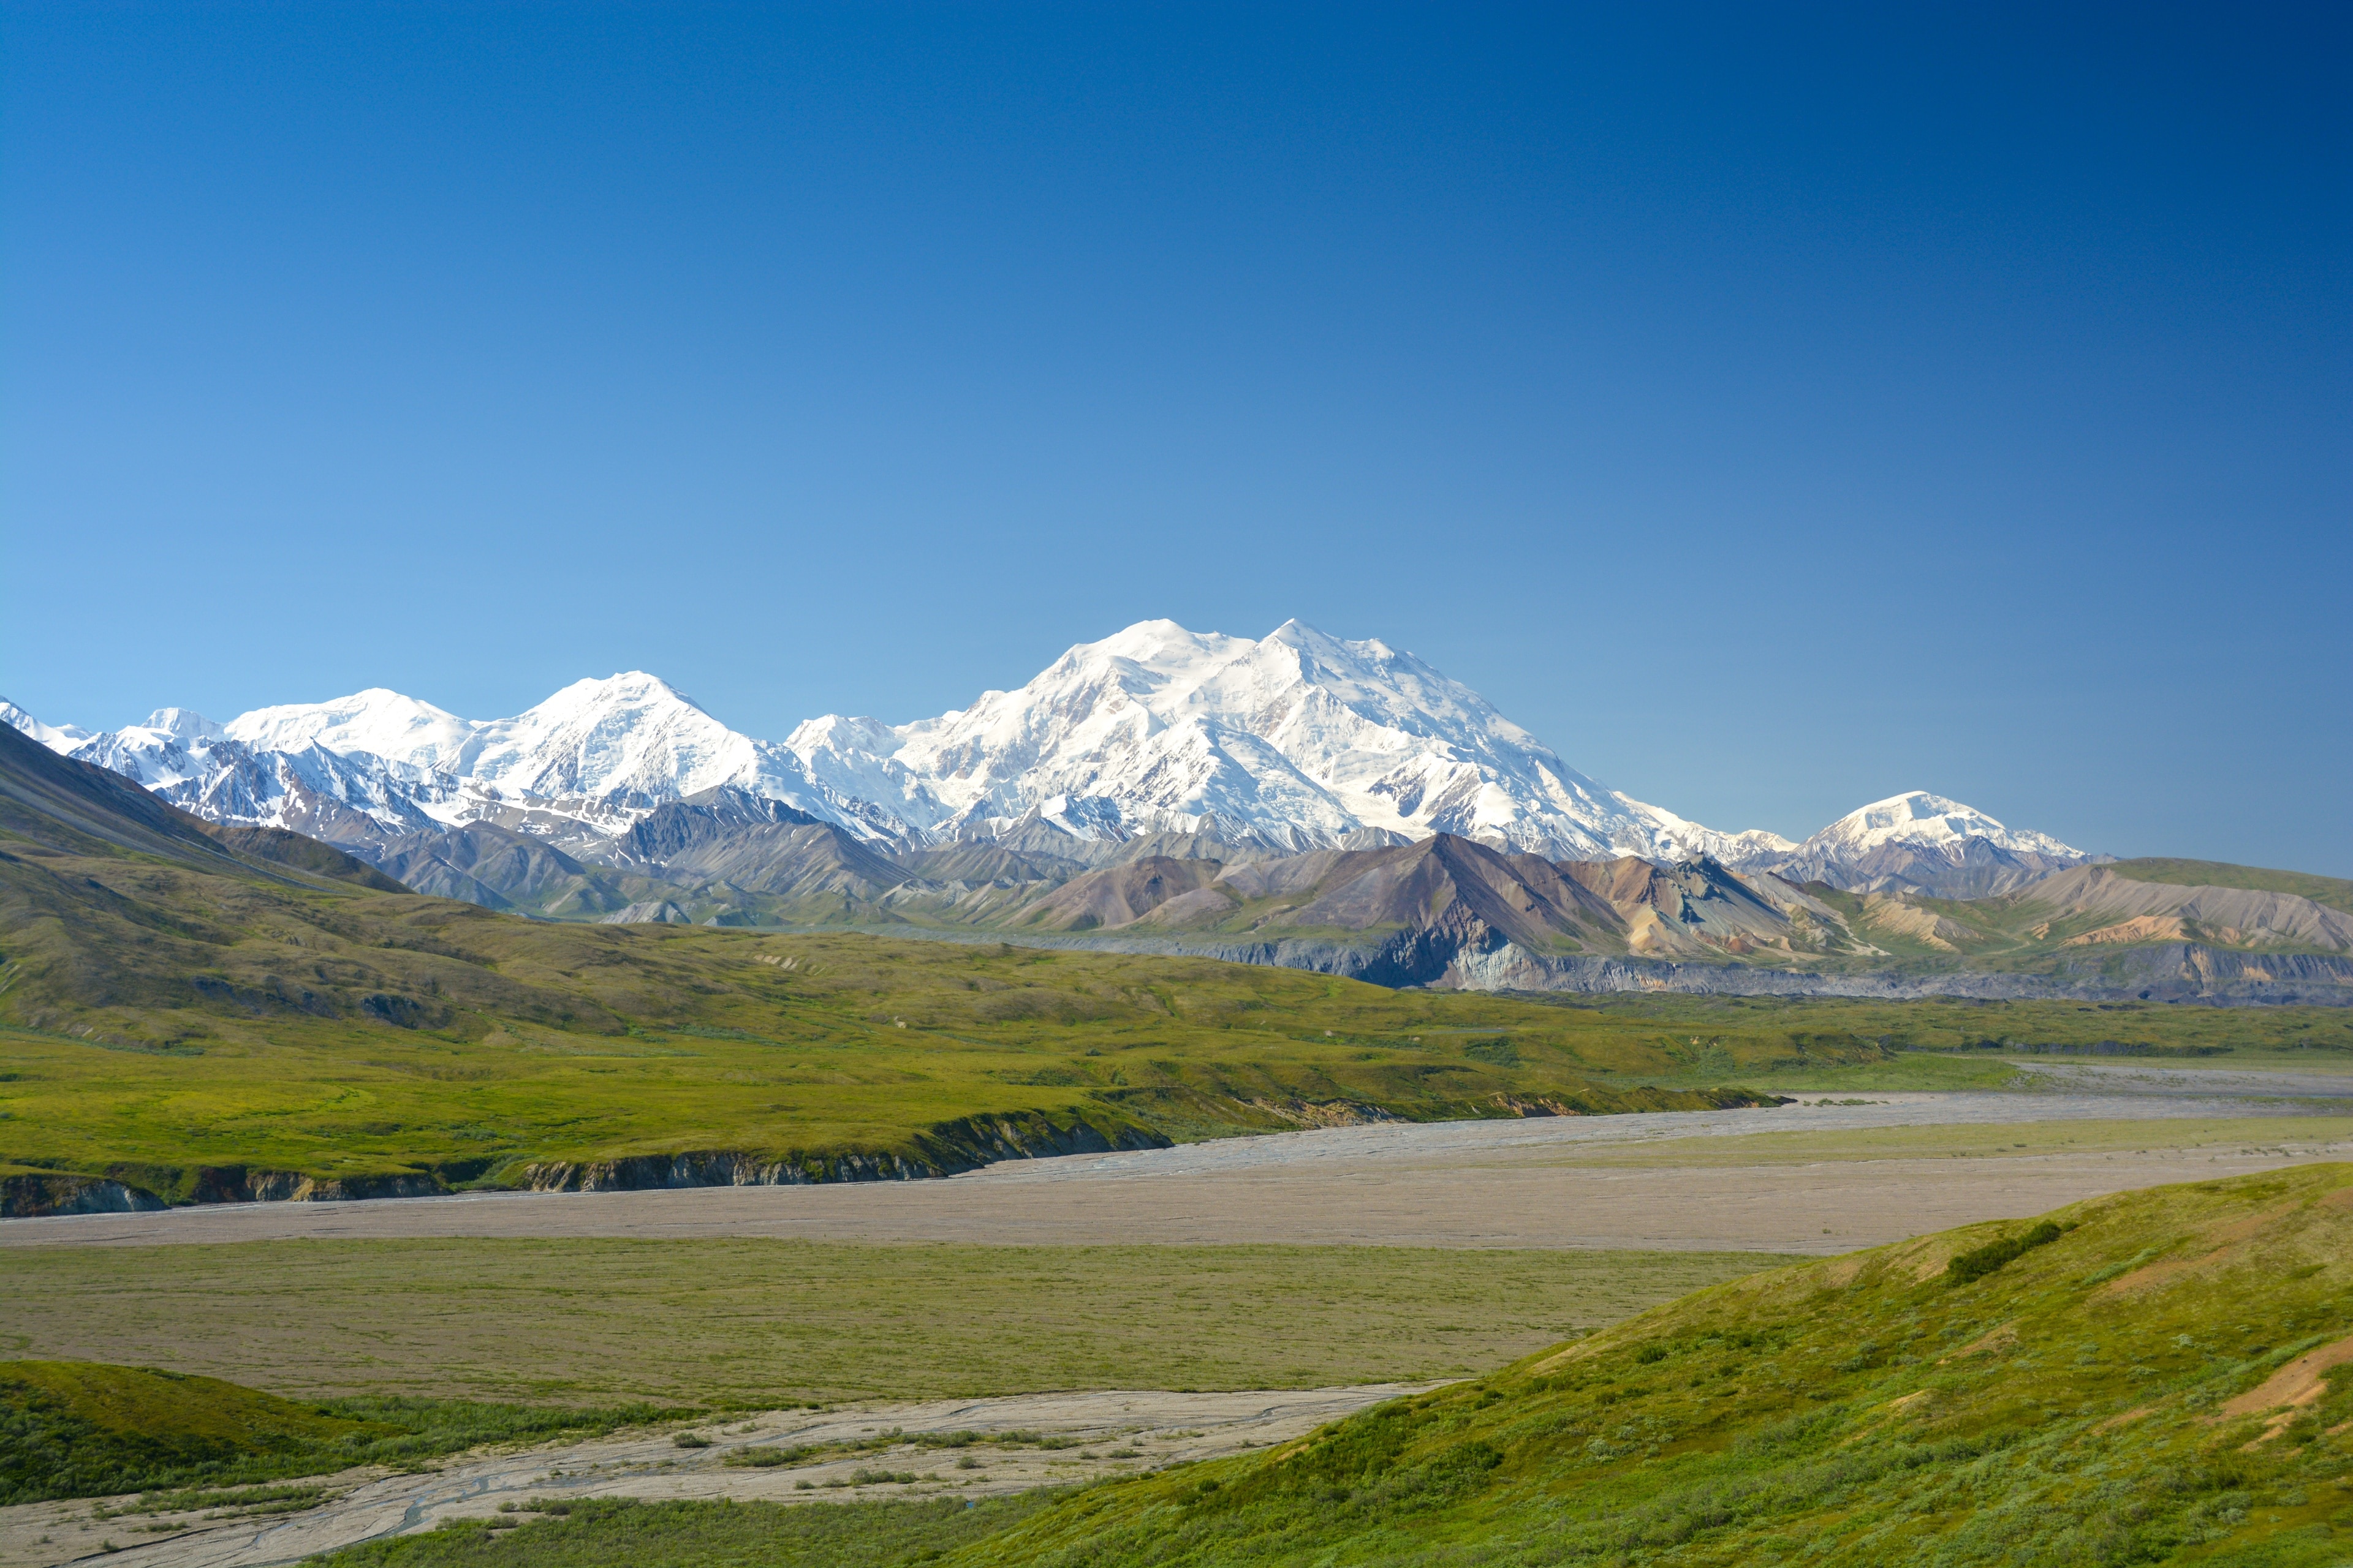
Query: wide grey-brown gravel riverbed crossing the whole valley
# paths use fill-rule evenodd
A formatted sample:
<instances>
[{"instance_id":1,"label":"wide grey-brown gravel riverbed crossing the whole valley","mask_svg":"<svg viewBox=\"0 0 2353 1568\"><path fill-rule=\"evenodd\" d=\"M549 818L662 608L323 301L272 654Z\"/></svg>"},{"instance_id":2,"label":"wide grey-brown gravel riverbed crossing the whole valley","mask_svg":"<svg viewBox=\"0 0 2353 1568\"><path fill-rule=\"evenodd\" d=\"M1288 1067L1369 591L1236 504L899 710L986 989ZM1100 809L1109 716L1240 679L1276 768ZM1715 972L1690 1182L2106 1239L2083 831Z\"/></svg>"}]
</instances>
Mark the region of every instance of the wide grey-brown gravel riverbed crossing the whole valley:
<instances>
[{"instance_id":1,"label":"wide grey-brown gravel riverbed crossing the whole valley","mask_svg":"<svg viewBox=\"0 0 2353 1568\"><path fill-rule=\"evenodd\" d=\"M2205 1081L2207 1074L2195 1074ZM0 1246L287 1237L795 1237L981 1244L1358 1244L1847 1251L1972 1220L2261 1171L2313 1154L2167 1150L2014 1159L1826 1159L1678 1168L1673 1147L1746 1133L2167 1121L2299 1110L2297 1081L2238 1095L2054 1077L2040 1093L1885 1093L1852 1105L1344 1126L1129 1154L1024 1159L932 1182L536 1192L240 1204L0 1222ZM2075 1091L2089 1084L2087 1091ZM2318 1079L2339 1091L2346 1079ZM2132 1093L2118 1093L2132 1088ZM2268 1093L2266 1093L2268 1091ZM2339 1100L2341 1103L2341 1100ZM2304 1107L2308 1110L2308 1105ZM2353 1135L2353 1121L2348 1121ZM2153 1145L2155 1145L2153 1135ZM1649 1145L1647 1166L1579 1166ZM2353 1147L2353 1145L2346 1145Z\"/></svg>"}]
</instances>

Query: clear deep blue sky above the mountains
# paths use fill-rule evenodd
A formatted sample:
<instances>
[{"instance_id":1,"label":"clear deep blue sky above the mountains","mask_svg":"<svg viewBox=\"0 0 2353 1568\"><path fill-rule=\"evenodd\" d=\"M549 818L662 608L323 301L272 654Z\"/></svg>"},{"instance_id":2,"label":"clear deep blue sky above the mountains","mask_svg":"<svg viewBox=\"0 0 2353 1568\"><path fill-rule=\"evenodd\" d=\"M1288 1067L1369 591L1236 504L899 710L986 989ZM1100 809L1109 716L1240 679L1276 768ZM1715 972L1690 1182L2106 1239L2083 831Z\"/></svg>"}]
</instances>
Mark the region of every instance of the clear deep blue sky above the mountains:
<instances>
[{"instance_id":1,"label":"clear deep blue sky above the mountains","mask_svg":"<svg viewBox=\"0 0 2353 1568\"><path fill-rule=\"evenodd\" d=\"M911 719L1299 616L2353 875L2341 7L0 7L0 693Z\"/></svg>"}]
</instances>

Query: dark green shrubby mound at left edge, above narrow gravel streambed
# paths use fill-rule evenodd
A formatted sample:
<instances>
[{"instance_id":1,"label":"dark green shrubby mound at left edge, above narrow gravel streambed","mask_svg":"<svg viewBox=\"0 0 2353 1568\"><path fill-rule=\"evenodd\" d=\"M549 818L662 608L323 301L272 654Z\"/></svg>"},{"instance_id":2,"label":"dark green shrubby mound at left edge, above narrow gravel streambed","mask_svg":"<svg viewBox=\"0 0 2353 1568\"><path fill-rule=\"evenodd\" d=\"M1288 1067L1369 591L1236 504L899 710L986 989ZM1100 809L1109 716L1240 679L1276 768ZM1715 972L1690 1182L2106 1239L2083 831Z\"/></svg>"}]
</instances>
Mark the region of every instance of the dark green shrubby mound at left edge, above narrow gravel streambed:
<instances>
[{"instance_id":1,"label":"dark green shrubby mound at left edge, above narrow gravel streambed","mask_svg":"<svg viewBox=\"0 0 2353 1568\"><path fill-rule=\"evenodd\" d=\"M261 1389L99 1361L0 1361L0 1507L49 1497L247 1486L407 1465L475 1443L593 1434L687 1415L447 1399L296 1403ZM238 1497L235 1502L271 1502ZM179 1502L176 1507L212 1507Z\"/></svg>"}]
</instances>

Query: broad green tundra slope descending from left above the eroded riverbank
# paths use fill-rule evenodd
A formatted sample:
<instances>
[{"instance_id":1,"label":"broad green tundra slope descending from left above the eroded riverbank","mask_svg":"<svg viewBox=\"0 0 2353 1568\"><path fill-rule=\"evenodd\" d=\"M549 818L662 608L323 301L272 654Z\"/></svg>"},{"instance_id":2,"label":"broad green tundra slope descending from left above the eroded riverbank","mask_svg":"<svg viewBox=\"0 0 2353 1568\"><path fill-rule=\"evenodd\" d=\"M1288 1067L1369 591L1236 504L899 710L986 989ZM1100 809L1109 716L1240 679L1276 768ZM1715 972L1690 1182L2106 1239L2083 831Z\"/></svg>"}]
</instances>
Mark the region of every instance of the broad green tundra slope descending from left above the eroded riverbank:
<instances>
[{"instance_id":1,"label":"broad green tundra slope descending from left above the eroded riverbank","mask_svg":"<svg viewBox=\"0 0 2353 1568\"><path fill-rule=\"evenodd\" d=\"M1221 1133L1329 1100L1405 1117L1720 1100L1593 1088L1595 1070L1671 1058L1525 1001L1193 959L553 926L12 811L0 1166L169 1197L231 1164L442 1182L706 1150L939 1164L925 1128L972 1114ZM1466 1053L1487 1030L1513 1034L1515 1063ZM1734 1065L1824 1051L1878 1056L1760 1037Z\"/></svg>"}]
</instances>

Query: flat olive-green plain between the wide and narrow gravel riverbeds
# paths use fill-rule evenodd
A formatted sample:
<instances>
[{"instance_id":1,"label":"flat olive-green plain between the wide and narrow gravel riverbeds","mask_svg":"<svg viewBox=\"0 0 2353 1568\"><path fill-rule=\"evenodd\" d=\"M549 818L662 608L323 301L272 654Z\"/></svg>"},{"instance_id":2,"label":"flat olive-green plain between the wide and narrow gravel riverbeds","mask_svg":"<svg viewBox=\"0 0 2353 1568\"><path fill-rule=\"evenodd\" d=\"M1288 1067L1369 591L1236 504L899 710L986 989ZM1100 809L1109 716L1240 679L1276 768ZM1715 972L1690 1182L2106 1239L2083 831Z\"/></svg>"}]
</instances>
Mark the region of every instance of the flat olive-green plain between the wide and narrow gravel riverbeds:
<instances>
[{"instance_id":1,"label":"flat olive-green plain between the wide and narrow gravel riverbeds","mask_svg":"<svg viewBox=\"0 0 2353 1568\"><path fill-rule=\"evenodd\" d=\"M1346 1246L12 1248L0 1354L289 1396L776 1406L1447 1378L1779 1258Z\"/></svg>"}]
</instances>

